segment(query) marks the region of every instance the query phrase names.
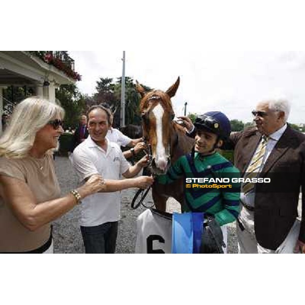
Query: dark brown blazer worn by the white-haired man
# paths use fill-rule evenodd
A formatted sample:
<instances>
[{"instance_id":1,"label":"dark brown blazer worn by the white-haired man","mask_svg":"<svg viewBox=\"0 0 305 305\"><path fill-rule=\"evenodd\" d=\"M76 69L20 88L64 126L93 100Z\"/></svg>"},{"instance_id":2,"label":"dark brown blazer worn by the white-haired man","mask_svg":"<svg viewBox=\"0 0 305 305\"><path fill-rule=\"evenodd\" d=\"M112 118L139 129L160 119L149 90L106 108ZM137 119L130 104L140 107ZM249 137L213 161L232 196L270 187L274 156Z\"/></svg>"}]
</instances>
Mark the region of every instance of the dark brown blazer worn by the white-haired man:
<instances>
[{"instance_id":1,"label":"dark brown blazer worn by the white-haired man","mask_svg":"<svg viewBox=\"0 0 305 305\"><path fill-rule=\"evenodd\" d=\"M261 134L256 128L230 136L230 142L225 148L234 149L234 163L242 174L245 173L260 138ZM298 215L300 186L302 221L299 239L305 242L305 135L289 126L272 149L259 175L270 178L275 176L278 186L280 184L283 187L275 191L274 188L270 189L270 184L257 184L254 210L256 239L262 247L271 250L276 250L281 245Z\"/></svg>"}]
</instances>

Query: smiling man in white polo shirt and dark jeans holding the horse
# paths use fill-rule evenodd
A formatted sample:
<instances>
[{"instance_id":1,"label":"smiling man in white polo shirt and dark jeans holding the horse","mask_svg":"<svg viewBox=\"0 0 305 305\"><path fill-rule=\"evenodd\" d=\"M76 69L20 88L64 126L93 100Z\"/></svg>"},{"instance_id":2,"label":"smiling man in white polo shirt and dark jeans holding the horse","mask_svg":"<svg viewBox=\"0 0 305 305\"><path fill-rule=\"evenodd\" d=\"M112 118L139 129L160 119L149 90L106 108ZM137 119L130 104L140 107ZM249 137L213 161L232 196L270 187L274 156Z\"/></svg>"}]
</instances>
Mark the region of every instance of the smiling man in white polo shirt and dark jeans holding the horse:
<instances>
[{"instance_id":1,"label":"smiling man in white polo shirt and dark jeans holding the horse","mask_svg":"<svg viewBox=\"0 0 305 305\"><path fill-rule=\"evenodd\" d=\"M88 111L89 137L73 152L73 166L80 180L99 173L111 182L113 193L97 193L82 200L80 226L86 253L114 253L119 220L120 195L126 188L146 188L152 177L118 180L120 174L131 178L147 164L145 156L134 166L126 161L120 147L110 142L107 131L110 112L96 105Z\"/></svg>"}]
</instances>

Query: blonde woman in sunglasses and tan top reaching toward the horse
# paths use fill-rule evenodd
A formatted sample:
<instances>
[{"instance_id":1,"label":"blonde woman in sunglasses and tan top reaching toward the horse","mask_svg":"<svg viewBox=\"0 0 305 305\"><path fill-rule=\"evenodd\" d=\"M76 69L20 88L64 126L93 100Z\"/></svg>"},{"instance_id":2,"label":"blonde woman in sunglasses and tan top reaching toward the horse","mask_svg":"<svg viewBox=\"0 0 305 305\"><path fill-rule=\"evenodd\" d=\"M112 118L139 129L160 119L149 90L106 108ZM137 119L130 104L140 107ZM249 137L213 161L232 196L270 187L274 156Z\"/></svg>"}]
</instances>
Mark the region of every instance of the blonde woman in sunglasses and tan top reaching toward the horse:
<instances>
[{"instance_id":1,"label":"blonde woman in sunglasses and tan top reaching toward the horse","mask_svg":"<svg viewBox=\"0 0 305 305\"><path fill-rule=\"evenodd\" d=\"M96 192L150 184L94 174L60 197L52 150L63 133L64 109L38 97L17 105L0 138L0 253L53 253L50 222ZM136 181L135 181L136 180Z\"/></svg>"}]
</instances>

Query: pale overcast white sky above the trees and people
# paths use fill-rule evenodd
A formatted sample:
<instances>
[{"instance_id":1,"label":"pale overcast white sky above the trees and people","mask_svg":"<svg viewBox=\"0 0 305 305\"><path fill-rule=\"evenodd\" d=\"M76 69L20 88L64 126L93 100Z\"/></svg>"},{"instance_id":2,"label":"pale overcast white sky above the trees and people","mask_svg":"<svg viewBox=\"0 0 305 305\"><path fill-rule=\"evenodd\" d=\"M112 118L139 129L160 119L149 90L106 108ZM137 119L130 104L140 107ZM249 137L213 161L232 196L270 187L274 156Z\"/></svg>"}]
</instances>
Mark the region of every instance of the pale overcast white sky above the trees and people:
<instances>
[{"instance_id":1,"label":"pale overcast white sky above the trees and people","mask_svg":"<svg viewBox=\"0 0 305 305\"><path fill-rule=\"evenodd\" d=\"M100 77L116 78L123 50L69 51L83 94L96 92ZM171 99L176 115L219 110L229 119L252 120L257 102L285 98L288 121L305 123L305 51L126 50L125 75L151 88L166 90L180 77Z\"/></svg>"}]
</instances>

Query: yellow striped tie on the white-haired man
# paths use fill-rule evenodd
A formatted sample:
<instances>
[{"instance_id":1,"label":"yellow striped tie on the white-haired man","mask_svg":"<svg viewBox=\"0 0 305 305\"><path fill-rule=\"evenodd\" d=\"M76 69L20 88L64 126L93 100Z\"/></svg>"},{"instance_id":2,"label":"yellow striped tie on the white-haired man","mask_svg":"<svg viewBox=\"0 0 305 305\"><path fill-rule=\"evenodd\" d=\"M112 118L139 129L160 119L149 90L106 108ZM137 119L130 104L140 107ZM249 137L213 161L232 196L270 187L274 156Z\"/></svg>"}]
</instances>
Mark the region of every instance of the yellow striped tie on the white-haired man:
<instances>
[{"instance_id":1,"label":"yellow striped tie on the white-haired man","mask_svg":"<svg viewBox=\"0 0 305 305\"><path fill-rule=\"evenodd\" d=\"M254 178L258 176L258 173L260 172L260 167L262 165L264 155L266 152L266 146L268 142L268 137L262 136L262 140L260 141L255 154L251 160L251 163L247 169L246 175L244 178ZM246 182L245 184L242 185L241 187L241 192L242 193L249 193L253 191L255 186L255 183L253 182Z\"/></svg>"}]
</instances>

